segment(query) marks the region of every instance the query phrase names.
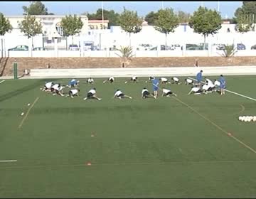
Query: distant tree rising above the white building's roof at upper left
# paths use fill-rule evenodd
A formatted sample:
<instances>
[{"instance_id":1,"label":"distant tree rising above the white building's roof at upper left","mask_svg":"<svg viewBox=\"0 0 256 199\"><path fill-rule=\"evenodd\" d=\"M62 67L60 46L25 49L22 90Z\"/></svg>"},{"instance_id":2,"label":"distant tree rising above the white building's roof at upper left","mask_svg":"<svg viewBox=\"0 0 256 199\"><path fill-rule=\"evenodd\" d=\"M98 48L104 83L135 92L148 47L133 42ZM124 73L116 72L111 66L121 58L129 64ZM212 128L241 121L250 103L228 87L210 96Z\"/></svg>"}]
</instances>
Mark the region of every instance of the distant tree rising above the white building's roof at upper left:
<instances>
[{"instance_id":1,"label":"distant tree rising above the white building's roof at upper left","mask_svg":"<svg viewBox=\"0 0 256 199\"><path fill-rule=\"evenodd\" d=\"M22 6L23 15L53 15L41 1L32 1L30 6Z\"/></svg>"}]
</instances>

